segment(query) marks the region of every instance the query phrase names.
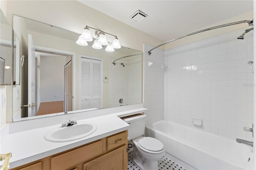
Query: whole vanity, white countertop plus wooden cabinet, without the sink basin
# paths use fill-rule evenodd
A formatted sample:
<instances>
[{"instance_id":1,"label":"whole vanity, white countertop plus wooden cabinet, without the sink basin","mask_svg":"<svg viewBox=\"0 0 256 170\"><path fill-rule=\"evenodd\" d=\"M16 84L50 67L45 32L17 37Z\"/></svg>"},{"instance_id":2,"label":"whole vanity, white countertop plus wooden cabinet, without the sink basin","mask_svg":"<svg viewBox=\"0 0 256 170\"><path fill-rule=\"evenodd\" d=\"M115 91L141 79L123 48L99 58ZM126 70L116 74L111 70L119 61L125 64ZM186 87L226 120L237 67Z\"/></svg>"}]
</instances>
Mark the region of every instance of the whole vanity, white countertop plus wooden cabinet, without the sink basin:
<instances>
[{"instance_id":1,"label":"whole vanity, white countertop plus wooden cabinet, without the sink basin","mask_svg":"<svg viewBox=\"0 0 256 170\"><path fill-rule=\"evenodd\" d=\"M10 169L13 170L90 170L102 169L102 166L103 169L126 169L127 130L130 125L121 118L148 110L141 105L129 108L119 112L110 109L91 111L90 115L94 114L95 117L72 113L10 123L1 131L1 152L12 153ZM62 120L72 118L78 120L77 125L95 124L97 129L76 140L46 140L45 134L49 130L61 127ZM66 128L73 126L76 125Z\"/></svg>"}]
</instances>

